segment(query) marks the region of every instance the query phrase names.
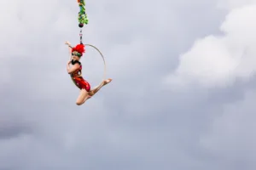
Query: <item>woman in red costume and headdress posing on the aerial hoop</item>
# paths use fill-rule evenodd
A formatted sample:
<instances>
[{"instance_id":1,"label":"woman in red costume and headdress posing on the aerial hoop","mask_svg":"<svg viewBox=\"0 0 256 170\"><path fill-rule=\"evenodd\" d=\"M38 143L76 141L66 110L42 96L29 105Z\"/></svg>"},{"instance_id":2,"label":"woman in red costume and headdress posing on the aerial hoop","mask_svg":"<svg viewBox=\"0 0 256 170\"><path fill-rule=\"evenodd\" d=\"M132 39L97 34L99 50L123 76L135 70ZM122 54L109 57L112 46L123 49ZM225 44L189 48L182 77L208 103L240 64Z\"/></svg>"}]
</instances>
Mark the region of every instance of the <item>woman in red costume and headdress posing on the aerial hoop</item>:
<instances>
[{"instance_id":1,"label":"woman in red costume and headdress posing on the aerial hoop","mask_svg":"<svg viewBox=\"0 0 256 170\"><path fill-rule=\"evenodd\" d=\"M79 44L74 48L69 42L66 42L66 44L68 45L72 56L72 60L67 62L67 73L70 74L74 84L80 89L79 98L77 99L76 104L83 105L87 99L90 99L103 86L111 82L112 79L108 78L107 80L102 81L96 88L90 89L90 83L85 81L82 77L82 65L79 61L85 52L84 44ZM69 66L70 64L72 64L72 67Z\"/></svg>"}]
</instances>

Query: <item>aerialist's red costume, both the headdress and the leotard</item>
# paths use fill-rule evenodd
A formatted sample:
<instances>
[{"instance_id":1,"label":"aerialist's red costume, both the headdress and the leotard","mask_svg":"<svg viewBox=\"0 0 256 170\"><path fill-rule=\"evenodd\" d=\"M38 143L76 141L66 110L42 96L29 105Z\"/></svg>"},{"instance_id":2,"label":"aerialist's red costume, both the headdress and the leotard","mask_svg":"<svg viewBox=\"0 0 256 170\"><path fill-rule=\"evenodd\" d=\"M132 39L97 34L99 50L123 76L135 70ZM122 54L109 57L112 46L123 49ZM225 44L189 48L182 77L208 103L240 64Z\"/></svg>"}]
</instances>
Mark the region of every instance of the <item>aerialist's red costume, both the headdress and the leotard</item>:
<instances>
[{"instance_id":1,"label":"aerialist's red costume, both the headdress and the leotard","mask_svg":"<svg viewBox=\"0 0 256 170\"><path fill-rule=\"evenodd\" d=\"M75 56L78 56L79 58L83 56L84 50L84 44L79 44L75 48L72 49L72 54ZM79 63L79 69L76 71L73 71L71 73L71 78L73 80L73 83L80 89L85 89L87 92L90 91L90 83L85 81L82 77L82 65L79 62L79 60L72 60L72 65L75 65L76 63Z\"/></svg>"}]
</instances>

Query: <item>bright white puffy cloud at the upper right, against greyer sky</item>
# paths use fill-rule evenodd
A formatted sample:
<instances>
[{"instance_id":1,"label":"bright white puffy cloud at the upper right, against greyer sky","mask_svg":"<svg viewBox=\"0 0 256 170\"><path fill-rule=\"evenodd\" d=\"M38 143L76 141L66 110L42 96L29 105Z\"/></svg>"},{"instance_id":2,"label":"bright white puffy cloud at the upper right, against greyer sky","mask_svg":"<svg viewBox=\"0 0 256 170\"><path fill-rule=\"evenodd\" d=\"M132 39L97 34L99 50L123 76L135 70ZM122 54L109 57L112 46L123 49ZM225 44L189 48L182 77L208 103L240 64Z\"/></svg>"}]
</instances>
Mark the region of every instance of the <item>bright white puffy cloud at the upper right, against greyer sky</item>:
<instances>
[{"instance_id":1,"label":"bright white puffy cloud at the upper right, against greyer sky","mask_svg":"<svg viewBox=\"0 0 256 170\"><path fill-rule=\"evenodd\" d=\"M256 5L230 11L220 30L224 36L197 40L180 56L174 73L166 77L171 85L199 83L201 86L225 87L237 78L249 80L256 71Z\"/></svg>"}]
</instances>

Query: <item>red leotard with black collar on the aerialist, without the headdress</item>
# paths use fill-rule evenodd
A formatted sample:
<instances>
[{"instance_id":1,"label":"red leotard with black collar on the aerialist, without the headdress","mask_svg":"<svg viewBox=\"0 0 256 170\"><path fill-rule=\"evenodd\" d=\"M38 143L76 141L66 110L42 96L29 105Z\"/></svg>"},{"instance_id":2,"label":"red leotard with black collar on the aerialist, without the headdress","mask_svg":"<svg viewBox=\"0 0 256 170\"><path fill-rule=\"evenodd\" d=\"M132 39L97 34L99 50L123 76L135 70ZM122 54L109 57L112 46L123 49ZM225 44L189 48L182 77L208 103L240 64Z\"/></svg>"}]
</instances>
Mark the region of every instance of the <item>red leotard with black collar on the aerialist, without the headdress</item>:
<instances>
[{"instance_id":1,"label":"red leotard with black collar on the aerialist, without the headdress","mask_svg":"<svg viewBox=\"0 0 256 170\"><path fill-rule=\"evenodd\" d=\"M85 89L87 92L90 91L90 83L85 81L84 78L82 77L82 65L81 63L76 60L73 61L72 60L72 65L79 63L79 69L76 71L73 71L73 73L71 73L71 78L73 80L73 83L79 88L79 89Z\"/></svg>"}]
</instances>

